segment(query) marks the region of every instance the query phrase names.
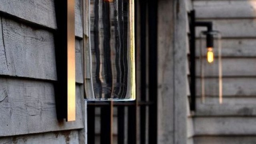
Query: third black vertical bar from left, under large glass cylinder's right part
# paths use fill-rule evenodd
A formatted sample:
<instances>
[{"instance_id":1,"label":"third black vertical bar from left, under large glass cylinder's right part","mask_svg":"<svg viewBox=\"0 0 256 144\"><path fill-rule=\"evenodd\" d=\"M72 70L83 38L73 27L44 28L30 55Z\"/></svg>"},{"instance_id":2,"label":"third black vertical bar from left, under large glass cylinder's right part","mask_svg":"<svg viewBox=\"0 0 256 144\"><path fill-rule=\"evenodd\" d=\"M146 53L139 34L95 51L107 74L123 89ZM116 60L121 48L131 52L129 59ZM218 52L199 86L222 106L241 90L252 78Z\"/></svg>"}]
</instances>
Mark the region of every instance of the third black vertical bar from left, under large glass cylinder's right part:
<instances>
[{"instance_id":1,"label":"third black vertical bar from left, under large glass cylinder's right part","mask_svg":"<svg viewBox=\"0 0 256 144\"><path fill-rule=\"evenodd\" d=\"M118 144L124 144L124 106L118 106Z\"/></svg>"}]
</instances>

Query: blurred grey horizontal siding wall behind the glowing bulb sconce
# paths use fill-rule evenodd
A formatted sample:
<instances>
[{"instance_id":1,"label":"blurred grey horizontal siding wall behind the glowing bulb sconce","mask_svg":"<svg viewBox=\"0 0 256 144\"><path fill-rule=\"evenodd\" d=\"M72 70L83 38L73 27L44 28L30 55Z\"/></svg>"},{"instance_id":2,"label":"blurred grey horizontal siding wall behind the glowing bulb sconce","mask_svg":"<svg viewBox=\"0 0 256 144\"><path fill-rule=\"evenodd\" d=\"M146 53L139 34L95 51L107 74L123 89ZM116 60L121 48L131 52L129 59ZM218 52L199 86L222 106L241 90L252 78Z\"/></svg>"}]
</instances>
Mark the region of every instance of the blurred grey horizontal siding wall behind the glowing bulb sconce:
<instances>
[{"instance_id":1,"label":"blurred grey horizontal siding wall behind the glowing bulb sconce","mask_svg":"<svg viewBox=\"0 0 256 144\"><path fill-rule=\"evenodd\" d=\"M217 98L203 104L197 79L196 112L188 118L193 120L193 142L254 144L256 0L194 0L193 6L197 20L212 21L222 33L223 68L223 104Z\"/></svg>"}]
</instances>

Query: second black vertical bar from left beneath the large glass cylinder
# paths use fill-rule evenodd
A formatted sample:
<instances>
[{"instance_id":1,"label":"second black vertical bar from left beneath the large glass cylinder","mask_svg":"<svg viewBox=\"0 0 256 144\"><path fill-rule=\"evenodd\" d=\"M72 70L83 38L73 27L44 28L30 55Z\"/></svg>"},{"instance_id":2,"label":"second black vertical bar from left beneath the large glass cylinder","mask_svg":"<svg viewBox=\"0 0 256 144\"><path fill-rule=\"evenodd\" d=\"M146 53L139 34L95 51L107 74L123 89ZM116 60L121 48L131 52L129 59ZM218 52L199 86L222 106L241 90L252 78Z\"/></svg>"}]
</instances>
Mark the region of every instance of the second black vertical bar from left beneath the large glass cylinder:
<instances>
[{"instance_id":1,"label":"second black vertical bar from left beneath the large glass cylinder","mask_svg":"<svg viewBox=\"0 0 256 144\"><path fill-rule=\"evenodd\" d=\"M102 106L100 111L100 143L112 144L113 102Z\"/></svg>"}]
</instances>

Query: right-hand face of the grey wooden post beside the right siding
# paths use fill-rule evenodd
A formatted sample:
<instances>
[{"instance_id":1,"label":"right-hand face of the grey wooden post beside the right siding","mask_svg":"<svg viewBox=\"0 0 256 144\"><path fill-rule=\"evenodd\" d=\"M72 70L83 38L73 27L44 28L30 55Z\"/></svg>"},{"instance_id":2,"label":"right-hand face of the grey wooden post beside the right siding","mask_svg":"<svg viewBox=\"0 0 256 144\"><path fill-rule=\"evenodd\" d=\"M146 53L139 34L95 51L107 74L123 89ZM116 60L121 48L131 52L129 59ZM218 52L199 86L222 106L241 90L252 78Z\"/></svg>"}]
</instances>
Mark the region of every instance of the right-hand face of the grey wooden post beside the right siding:
<instances>
[{"instance_id":1,"label":"right-hand face of the grey wooden post beside the right siding","mask_svg":"<svg viewBox=\"0 0 256 144\"><path fill-rule=\"evenodd\" d=\"M188 49L188 14L186 6L190 0L174 1L174 47L173 47L173 78L174 78L174 141L173 144L187 142L187 49ZM169 12L167 10L167 12ZM163 14L164 15L164 14ZM163 30L164 31L164 30ZM170 97L170 95L169 95ZM192 127L190 127L192 128Z\"/></svg>"}]
</instances>

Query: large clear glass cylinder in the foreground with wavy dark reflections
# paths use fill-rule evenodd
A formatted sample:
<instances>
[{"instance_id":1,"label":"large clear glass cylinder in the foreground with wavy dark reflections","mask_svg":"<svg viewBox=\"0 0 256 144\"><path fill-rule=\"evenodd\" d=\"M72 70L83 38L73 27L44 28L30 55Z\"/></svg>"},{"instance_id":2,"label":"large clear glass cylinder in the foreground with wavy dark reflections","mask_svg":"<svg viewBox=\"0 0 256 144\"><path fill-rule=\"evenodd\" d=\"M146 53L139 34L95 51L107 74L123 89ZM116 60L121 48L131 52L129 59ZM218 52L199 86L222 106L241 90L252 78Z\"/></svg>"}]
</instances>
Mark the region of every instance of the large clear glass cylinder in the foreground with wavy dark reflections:
<instances>
[{"instance_id":1,"label":"large clear glass cylinder in the foreground with wavy dark reflections","mask_svg":"<svg viewBox=\"0 0 256 144\"><path fill-rule=\"evenodd\" d=\"M88 54L87 100L135 100L134 0L90 0Z\"/></svg>"}]
</instances>

